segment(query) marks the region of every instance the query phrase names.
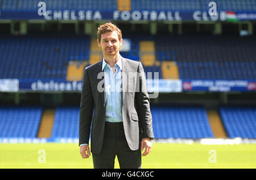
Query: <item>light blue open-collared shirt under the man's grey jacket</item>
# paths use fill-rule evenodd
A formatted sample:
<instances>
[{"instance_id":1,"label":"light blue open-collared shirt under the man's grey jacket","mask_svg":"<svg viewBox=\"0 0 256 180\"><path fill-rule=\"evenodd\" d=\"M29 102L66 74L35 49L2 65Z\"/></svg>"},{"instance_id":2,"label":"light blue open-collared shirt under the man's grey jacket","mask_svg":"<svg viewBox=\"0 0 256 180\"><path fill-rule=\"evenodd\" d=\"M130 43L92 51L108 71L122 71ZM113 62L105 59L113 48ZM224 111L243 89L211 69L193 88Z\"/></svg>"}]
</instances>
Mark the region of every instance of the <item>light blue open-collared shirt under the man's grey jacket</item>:
<instances>
[{"instance_id":1,"label":"light blue open-collared shirt under the man's grey jacket","mask_svg":"<svg viewBox=\"0 0 256 180\"><path fill-rule=\"evenodd\" d=\"M106 122L122 122L122 60L119 56L115 64L115 73L103 58L102 70L104 70L104 85L106 97ZM80 144L88 145L88 144Z\"/></svg>"}]
</instances>

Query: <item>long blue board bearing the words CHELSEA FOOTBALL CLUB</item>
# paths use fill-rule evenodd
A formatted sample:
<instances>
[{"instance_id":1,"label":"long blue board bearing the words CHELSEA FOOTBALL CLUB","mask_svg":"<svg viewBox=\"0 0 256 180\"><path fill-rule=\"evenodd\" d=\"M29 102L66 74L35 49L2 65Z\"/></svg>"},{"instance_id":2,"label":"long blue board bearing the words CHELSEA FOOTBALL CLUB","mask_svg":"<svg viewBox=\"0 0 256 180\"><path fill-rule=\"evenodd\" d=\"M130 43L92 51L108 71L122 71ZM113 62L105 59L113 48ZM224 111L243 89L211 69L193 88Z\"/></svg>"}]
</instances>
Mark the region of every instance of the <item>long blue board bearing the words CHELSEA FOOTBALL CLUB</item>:
<instances>
[{"instance_id":1,"label":"long blue board bearing the words CHELSEA FOOTBALL CLUB","mask_svg":"<svg viewBox=\"0 0 256 180\"><path fill-rule=\"evenodd\" d=\"M45 2L39 2L36 11L0 11L1 19L44 19L44 20L157 20L157 21L226 21L227 10L219 10L217 3L209 2L205 10L168 11L168 10L134 10L134 11L109 11L98 10L72 10L51 9ZM207 10L208 9L208 10ZM238 20L255 20L256 13L249 11L232 11Z\"/></svg>"}]
</instances>

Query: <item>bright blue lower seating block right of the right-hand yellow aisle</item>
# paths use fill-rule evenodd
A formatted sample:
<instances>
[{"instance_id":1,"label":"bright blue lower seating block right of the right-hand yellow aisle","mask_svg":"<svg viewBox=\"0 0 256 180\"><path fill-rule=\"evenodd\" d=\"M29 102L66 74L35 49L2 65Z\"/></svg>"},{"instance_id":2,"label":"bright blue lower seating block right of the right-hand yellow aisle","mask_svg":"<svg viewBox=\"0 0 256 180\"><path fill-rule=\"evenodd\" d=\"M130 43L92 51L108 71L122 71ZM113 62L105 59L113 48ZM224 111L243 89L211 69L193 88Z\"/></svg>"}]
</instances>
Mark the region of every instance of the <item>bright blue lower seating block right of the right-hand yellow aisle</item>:
<instances>
[{"instance_id":1,"label":"bright blue lower seating block right of the right-hand yellow aisle","mask_svg":"<svg viewBox=\"0 0 256 180\"><path fill-rule=\"evenodd\" d=\"M256 138L256 107L221 107L220 115L230 138Z\"/></svg>"}]
</instances>

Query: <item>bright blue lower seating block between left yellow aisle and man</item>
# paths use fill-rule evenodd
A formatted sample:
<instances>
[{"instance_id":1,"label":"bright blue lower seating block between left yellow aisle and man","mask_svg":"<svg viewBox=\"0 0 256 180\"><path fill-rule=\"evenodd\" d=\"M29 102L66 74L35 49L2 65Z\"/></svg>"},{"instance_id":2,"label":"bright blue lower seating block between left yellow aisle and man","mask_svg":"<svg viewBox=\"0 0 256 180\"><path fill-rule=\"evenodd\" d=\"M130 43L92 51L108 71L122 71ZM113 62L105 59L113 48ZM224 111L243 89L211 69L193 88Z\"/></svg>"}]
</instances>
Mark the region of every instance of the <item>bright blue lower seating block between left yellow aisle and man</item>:
<instances>
[{"instance_id":1,"label":"bright blue lower seating block between left yellow aisle and man","mask_svg":"<svg viewBox=\"0 0 256 180\"><path fill-rule=\"evenodd\" d=\"M57 107L51 138L79 137L79 107Z\"/></svg>"}]
</instances>

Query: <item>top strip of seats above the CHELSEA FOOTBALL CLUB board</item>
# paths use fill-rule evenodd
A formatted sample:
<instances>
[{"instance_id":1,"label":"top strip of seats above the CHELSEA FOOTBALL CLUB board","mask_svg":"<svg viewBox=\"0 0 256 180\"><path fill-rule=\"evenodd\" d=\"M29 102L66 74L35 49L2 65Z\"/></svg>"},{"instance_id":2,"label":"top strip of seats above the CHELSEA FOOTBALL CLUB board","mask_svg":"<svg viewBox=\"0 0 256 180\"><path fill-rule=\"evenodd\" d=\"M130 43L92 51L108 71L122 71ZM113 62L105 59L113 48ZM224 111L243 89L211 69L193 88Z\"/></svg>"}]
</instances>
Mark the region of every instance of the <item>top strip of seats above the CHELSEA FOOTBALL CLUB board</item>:
<instances>
[{"instance_id":1,"label":"top strip of seats above the CHELSEA FOOTBALL CLUB board","mask_svg":"<svg viewBox=\"0 0 256 180\"><path fill-rule=\"evenodd\" d=\"M0 1L1 2L1 1ZM2 10L22 10L37 11L40 0L2 0L0 8ZM210 0L44 0L50 10L177 10L177 11L208 11ZM221 11L252 11L255 10L254 0L216 0L218 10ZM101 4L101 6L98 6Z\"/></svg>"}]
</instances>

